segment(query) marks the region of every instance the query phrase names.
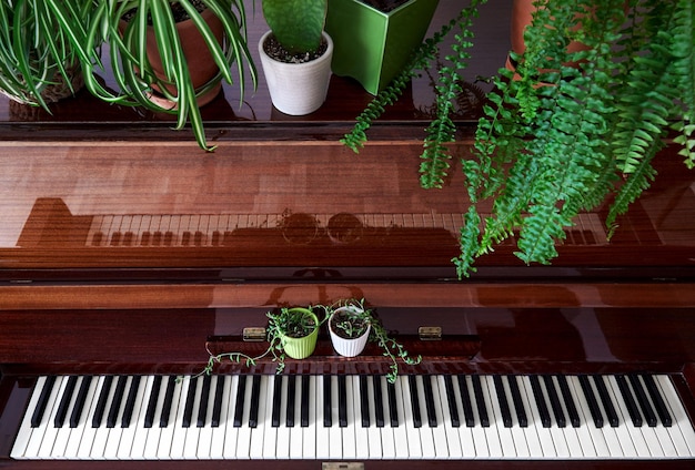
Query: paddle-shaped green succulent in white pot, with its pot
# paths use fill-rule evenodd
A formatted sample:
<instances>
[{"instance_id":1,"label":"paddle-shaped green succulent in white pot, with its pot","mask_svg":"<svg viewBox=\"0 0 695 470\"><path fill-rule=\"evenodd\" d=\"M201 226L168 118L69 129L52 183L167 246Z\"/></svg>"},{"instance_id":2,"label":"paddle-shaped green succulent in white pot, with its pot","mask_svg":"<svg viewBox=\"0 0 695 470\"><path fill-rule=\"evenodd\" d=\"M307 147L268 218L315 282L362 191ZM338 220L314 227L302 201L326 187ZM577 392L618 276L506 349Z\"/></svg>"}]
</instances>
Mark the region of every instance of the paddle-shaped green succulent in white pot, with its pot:
<instances>
[{"instance_id":1,"label":"paddle-shaped green succulent in white pot, with its pot","mask_svg":"<svg viewBox=\"0 0 695 470\"><path fill-rule=\"evenodd\" d=\"M273 105L290 115L312 113L325 101L331 79L328 0L263 0L262 7L270 31L259 54Z\"/></svg>"}]
</instances>

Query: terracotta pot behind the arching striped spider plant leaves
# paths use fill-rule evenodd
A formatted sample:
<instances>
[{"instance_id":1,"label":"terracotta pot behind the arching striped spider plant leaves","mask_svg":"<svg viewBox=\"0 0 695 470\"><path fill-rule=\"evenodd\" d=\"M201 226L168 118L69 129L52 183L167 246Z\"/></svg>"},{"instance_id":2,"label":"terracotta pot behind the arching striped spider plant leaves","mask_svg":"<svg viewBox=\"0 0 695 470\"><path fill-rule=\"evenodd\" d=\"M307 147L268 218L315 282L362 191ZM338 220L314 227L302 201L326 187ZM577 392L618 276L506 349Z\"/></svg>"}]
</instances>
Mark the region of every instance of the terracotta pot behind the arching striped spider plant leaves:
<instances>
[{"instance_id":1,"label":"terracotta pot behind the arching striped spider plant leaves","mask_svg":"<svg viewBox=\"0 0 695 470\"><path fill-rule=\"evenodd\" d=\"M224 27L222 25L220 19L211 10L204 10L201 16L208 22L208 25L214 33L218 42L222 44L222 41L224 40ZM179 33L179 38L181 40L183 54L187 59L193 88L195 90L199 90L202 86L207 85L211 80L213 80L220 69L214 62L214 59L212 58L212 53L210 52L205 40L203 39L192 20L185 20L177 23L177 32ZM157 38L154 37L152 28L149 28L147 41L148 59L150 60L152 70L159 79L171 82L171 80L167 78L162 68L159 48L157 47ZM157 86L153 88L157 89ZM221 88L222 78L219 76L218 83L214 88L212 88L207 93L198 96L198 105L202 106L211 102L218 95ZM177 88L174 84L168 85L167 90L172 94L175 94L177 92ZM162 108L171 108L171 104L167 106L165 103L170 102L163 96L152 96L151 99L152 101L162 105Z\"/></svg>"}]
</instances>

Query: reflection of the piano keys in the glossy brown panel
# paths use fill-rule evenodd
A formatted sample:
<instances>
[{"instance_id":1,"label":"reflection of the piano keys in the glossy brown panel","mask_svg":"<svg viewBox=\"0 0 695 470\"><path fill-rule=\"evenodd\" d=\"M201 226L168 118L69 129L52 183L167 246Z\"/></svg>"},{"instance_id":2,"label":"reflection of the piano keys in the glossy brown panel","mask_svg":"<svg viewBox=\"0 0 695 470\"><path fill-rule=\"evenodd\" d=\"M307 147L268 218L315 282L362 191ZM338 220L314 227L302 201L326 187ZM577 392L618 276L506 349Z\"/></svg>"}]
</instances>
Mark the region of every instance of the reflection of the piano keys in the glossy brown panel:
<instances>
[{"instance_id":1,"label":"reflection of the piano keys in the glossy brown panel","mask_svg":"<svg viewBox=\"0 0 695 470\"><path fill-rule=\"evenodd\" d=\"M461 214L354 214L364 227L444 228L459 236ZM328 227L331 214L312 214L320 227ZM240 228L276 228L283 214L179 214L179 215L95 215L87 245L135 246L225 246L232 232ZM603 224L597 214L580 214L576 225L566 231L570 245L605 245Z\"/></svg>"}]
</instances>

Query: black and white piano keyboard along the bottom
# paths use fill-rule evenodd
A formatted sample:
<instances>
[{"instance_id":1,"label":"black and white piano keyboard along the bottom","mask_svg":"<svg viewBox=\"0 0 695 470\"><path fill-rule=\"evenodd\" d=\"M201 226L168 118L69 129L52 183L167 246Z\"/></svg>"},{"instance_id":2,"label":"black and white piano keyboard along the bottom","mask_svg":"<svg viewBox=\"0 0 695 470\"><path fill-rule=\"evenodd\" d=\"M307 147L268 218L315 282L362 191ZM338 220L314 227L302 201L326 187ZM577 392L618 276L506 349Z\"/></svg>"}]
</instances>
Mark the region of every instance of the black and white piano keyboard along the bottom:
<instances>
[{"instance_id":1,"label":"black and white piano keyboard along the bottom","mask_svg":"<svg viewBox=\"0 0 695 470\"><path fill-rule=\"evenodd\" d=\"M49 376L14 459L693 458L671 379Z\"/></svg>"}]
</instances>

